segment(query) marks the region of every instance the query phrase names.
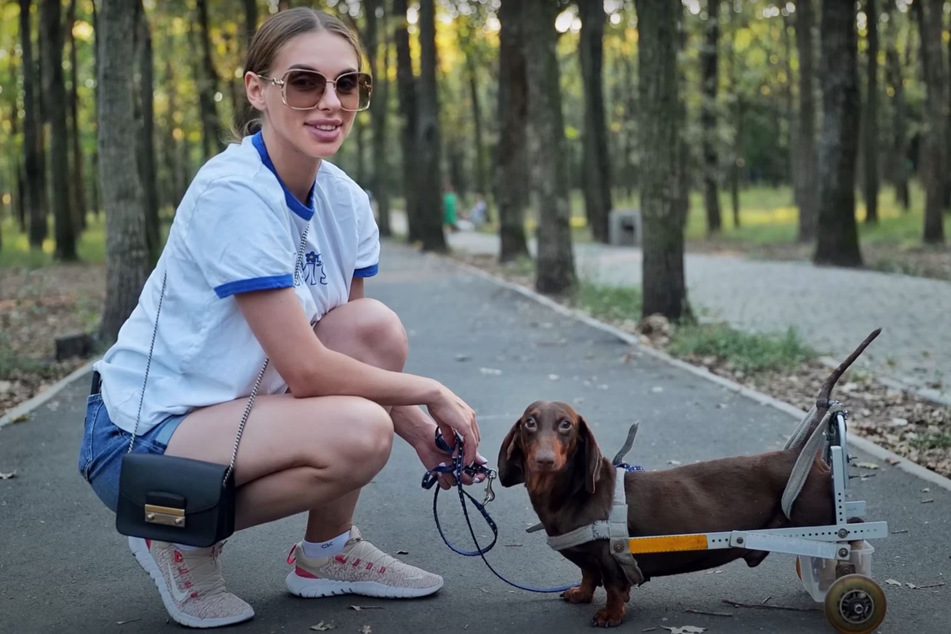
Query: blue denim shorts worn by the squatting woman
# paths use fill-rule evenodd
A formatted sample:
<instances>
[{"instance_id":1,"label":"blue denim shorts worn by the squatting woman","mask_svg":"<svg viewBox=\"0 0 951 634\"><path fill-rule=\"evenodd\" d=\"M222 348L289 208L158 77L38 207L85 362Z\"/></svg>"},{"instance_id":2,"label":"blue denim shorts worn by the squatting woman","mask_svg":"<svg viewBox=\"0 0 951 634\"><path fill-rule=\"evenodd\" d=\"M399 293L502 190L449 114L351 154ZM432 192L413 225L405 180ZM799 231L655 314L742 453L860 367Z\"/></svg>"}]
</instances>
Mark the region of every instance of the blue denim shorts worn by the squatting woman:
<instances>
[{"instance_id":1,"label":"blue denim shorts worn by the squatting woman","mask_svg":"<svg viewBox=\"0 0 951 634\"><path fill-rule=\"evenodd\" d=\"M144 434L135 437L134 453L163 454L185 414L169 416ZM79 447L79 473L92 485L103 504L116 510L119 500L119 468L122 454L129 450L132 434L116 427L102 402L102 394L86 400L86 422Z\"/></svg>"}]
</instances>

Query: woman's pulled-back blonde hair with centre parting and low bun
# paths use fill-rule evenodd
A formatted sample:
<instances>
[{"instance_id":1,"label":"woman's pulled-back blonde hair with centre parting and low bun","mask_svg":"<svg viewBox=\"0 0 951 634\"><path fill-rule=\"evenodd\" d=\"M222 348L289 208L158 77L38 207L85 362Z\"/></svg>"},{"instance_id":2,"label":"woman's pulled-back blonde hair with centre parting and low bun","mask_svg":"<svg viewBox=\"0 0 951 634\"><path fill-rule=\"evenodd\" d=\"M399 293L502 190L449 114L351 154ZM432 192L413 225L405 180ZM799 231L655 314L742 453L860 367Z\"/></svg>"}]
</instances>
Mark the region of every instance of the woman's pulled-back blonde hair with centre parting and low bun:
<instances>
[{"instance_id":1,"label":"woman's pulled-back blonde hair with centre parting and low bun","mask_svg":"<svg viewBox=\"0 0 951 634\"><path fill-rule=\"evenodd\" d=\"M357 67L363 68L363 48L360 46L360 40L357 39L356 33L350 27L344 24L340 18L323 11L308 7L296 7L275 13L264 21L264 24L251 38L244 72L269 75L275 58L287 42L298 35L314 32L334 33L347 40L347 43L353 47L353 51L357 54ZM250 115L254 111L250 104L246 108L246 115ZM238 117L241 116L241 113L235 114ZM245 121L243 125L240 125L240 130L232 129L232 134L238 142L243 137L254 134L261 129L260 117L245 116L241 119Z\"/></svg>"}]
</instances>

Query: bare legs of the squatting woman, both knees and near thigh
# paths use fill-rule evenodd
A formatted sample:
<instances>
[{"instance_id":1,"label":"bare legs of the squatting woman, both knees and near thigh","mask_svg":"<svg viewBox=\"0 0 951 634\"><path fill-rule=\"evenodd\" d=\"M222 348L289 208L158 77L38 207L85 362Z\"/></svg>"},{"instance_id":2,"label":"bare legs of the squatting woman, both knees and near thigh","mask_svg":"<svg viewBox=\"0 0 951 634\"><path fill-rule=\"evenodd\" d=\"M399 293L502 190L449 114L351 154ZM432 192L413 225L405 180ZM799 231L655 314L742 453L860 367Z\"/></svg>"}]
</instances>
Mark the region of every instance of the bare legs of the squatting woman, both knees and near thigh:
<instances>
[{"instance_id":1,"label":"bare legs of the squatting woman, both knees and near thigh","mask_svg":"<svg viewBox=\"0 0 951 634\"><path fill-rule=\"evenodd\" d=\"M328 348L389 370L402 370L406 333L380 302L335 308L315 329ZM227 463L247 401L188 415L167 455ZM235 465L238 528L310 510L305 538L326 541L347 531L359 489L383 468L393 441L387 411L365 399L292 395L255 399Z\"/></svg>"}]
</instances>

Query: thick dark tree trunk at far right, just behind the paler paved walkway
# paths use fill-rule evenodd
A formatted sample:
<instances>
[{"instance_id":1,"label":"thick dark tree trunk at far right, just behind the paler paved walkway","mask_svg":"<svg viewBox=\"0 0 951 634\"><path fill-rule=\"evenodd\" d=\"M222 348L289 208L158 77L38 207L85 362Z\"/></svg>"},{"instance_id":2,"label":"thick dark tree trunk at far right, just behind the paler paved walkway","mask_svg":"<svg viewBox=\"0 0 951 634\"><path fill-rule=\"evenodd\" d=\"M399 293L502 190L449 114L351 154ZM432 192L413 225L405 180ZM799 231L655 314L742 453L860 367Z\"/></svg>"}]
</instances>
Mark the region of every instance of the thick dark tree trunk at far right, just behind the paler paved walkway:
<instances>
[{"instance_id":1,"label":"thick dark tree trunk at far right, just behind the paler paved walkway","mask_svg":"<svg viewBox=\"0 0 951 634\"><path fill-rule=\"evenodd\" d=\"M822 134L816 264L861 266L855 225L858 36L851 2L822 3Z\"/></svg>"}]
</instances>

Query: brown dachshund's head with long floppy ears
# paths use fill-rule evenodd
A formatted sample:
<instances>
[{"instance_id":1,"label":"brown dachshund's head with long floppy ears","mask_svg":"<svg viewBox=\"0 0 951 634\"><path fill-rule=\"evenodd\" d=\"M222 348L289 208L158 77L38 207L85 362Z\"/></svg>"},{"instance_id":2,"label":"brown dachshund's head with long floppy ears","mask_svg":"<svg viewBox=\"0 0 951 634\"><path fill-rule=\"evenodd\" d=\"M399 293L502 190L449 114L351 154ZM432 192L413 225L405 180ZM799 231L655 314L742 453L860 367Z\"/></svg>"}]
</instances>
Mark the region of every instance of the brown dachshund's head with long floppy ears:
<instances>
[{"instance_id":1,"label":"brown dachshund's head with long floppy ears","mask_svg":"<svg viewBox=\"0 0 951 634\"><path fill-rule=\"evenodd\" d=\"M594 435L570 405L535 401L502 441L499 482L509 487L573 470L584 474L585 490L594 493L602 462Z\"/></svg>"}]
</instances>

